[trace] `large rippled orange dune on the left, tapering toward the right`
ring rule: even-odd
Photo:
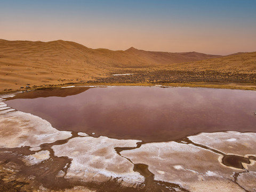
[[[135,52],[134,52],[135,50]],[[68,41],[31,42],[0,39],[0,91],[22,85],[60,84],[104,77],[113,67],[149,67],[217,57],[142,50],[90,49]]]

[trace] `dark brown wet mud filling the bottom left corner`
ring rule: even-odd
[[[42,189],[41,186],[46,191],[72,189],[75,186],[83,186],[85,189],[97,191],[145,191],[142,188],[143,186],[141,188],[140,186],[134,188],[121,186],[118,178],[108,182],[82,182],[65,179],[71,159],[55,156],[51,147],[63,145],[75,137],[81,136],[73,133],[73,136],[68,139],[58,140],[53,143],[43,143],[40,146],[41,149],[37,151],[29,150],[30,147],[1,148],[0,183],[2,185],[0,185],[0,191],[33,191],[33,189]],[[22,159],[26,159],[26,156],[43,150],[50,151],[50,158],[42,163],[28,166],[22,161]]]

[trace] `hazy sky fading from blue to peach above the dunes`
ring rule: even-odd
[[[0,0],[0,38],[91,48],[256,51],[255,0]]]

